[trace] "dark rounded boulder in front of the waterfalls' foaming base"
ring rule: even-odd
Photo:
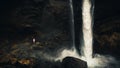
[[[87,68],[87,63],[83,60],[66,57],[62,61],[63,68]]]

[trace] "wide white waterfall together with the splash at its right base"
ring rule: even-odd
[[[102,56],[99,54],[93,55],[93,35],[92,35],[92,23],[93,23],[93,5],[92,0],[83,0],[82,4],[82,18],[83,18],[83,55],[89,68],[106,68],[111,67],[109,64],[116,64],[116,60],[111,56]],[[91,12],[92,11],[92,12]]]

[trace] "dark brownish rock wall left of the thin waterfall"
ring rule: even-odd
[[[55,56],[56,50],[72,46],[67,0],[6,2],[13,6],[6,6],[6,12],[1,12],[0,58],[8,54],[17,59],[41,57],[45,53]]]

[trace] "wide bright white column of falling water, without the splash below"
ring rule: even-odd
[[[91,2],[89,0],[83,0],[82,5],[82,17],[83,17],[83,39],[84,39],[84,57],[86,61],[92,59],[92,16],[91,16]]]

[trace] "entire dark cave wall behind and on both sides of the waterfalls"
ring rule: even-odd
[[[81,5],[81,0],[73,0],[75,46],[78,53],[82,44]],[[94,54],[120,57],[118,7],[118,0],[95,0]],[[29,57],[33,54],[38,59],[41,56],[39,52],[57,56],[56,53],[59,54],[62,48],[72,47],[69,0],[1,0],[0,9],[0,57],[3,62],[13,59],[21,61],[26,57],[31,59]],[[33,38],[37,42],[35,47]],[[42,63],[43,60],[40,61]]]

